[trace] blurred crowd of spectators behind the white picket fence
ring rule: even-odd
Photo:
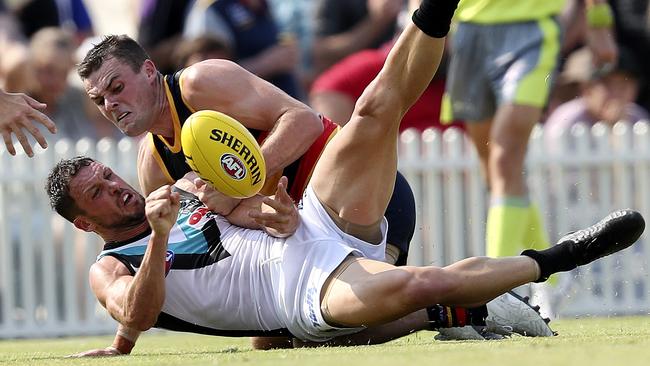
[[[648,117],[648,0],[610,0],[618,60],[598,64],[584,45],[583,0],[560,15],[561,60],[541,121],[549,136],[578,121]],[[383,64],[408,19],[402,0],[139,0],[138,34],[163,73],[208,58],[244,66],[337,122]],[[74,74],[101,37],[83,0],[0,0],[0,87],[47,103],[58,138],[120,138],[84,95]],[[572,15],[567,15],[572,14]],[[577,14],[577,16],[575,15]],[[103,14],[102,16],[111,16]],[[115,15],[113,15],[115,16]],[[453,34],[452,34],[453,37]],[[451,42],[449,42],[451,43]],[[446,68],[405,117],[402,128],[444,129]],[[455,126],[462,128],[461,121]]]

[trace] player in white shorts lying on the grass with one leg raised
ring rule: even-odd
[[[468,308],[632,245],[645,223],[638,212],[621,210],[550,249],[519,256],[473,257],[446,267],[378,260],[399,122],[437,69],[457,2],[421,3],[351,120],[325,148],[289,238],[233,226],[171,186],[145,200],[91,159],[57,165],[47,184],[52,206],[106,242],[90,283],[120,323],[116,339],[130,342],[83,355],[128,353],[139,332],[154,326],[322,342],[414,314],[434,326],[473,324],[484,314]],[[286,198],[284,184],[278,201]],[[441,316],[450,308],[432,304],[459,311]]]

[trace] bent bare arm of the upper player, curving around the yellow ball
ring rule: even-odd
[[[208,60],[190,66],[181,83],[183,97],[195,110],[217,110],[247,128],[271,132],[262,144],[267,176],[302,156],[323,132],[311,108],[233,62]]]

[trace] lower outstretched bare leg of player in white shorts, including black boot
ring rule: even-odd
[[[333,281],[329,300],[323,301],[334,323],[348,326],[393,320],[430,304],[475,307],[517,286],[623,250],[644,228],[641,214],[621,210],[565,236],[552,248],[527,250],[517,257],[473,257],[444,268],[354,259]]]

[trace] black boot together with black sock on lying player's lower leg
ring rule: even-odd
[[[540,267],[537,282],[556,272],[570,271],[634,244],[645,229],[645,220],[633,210],[612,212],[598,223],[562,237],[545,250],[528,249],[521,254],[533,258]]]

